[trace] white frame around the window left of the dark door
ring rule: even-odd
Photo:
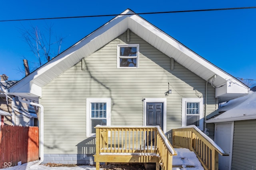
[[[111,98],[86,98],[86,137],[95,136],[95,133],[91,133],[91,103],[106,103],[106,119],[107,126],[111,125]]]

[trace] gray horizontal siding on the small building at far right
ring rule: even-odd
[[[235,121],[233,141],[233,170],[256,168],[256,120]]]

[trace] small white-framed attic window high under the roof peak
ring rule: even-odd
[[[138,68],[139,67],[139,44],[117,45],[117,67]]]

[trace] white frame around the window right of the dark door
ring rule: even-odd
[[[182,98],[182,127],[186,126],[186,107],[187,103],[199,103],[199,129],[204,130],[204,105],[203,98]]]

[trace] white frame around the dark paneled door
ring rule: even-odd
[[[166,133],[166,98],[144,98],[143,99],[143,125],[146,126],[146,104],[147,103],[163,103],[163,132]]]

